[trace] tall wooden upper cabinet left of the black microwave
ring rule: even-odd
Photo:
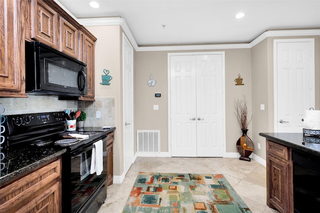
[[[24,0],[0,0],[0,96],[26,97]]]

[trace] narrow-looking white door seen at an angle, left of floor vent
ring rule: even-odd
[[[133,162],[133,48],[123,34],[123,163],[126,173]]]

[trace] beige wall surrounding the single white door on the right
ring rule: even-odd
[[[315,109],[320,109],[320,36],[268,37],[251,48],[252,67],[252,140],[253,153],[265,159],[265,138],[259,132],[273,132],[273,40],[293,38],[314,38]],[[260,110],[264,104],[265,110]],[[260,149],[257,149],[257,143]]]

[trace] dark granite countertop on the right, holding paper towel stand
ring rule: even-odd
[[[261,132],[260,136],[279,144],[320,156],[320,138],[303,136],[303,133]],[[315,140],[315,142],[307,142]]]

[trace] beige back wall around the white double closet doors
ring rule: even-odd
[[[235,144],[242,133],[234,115],[233,101],[245,95],[251,112],[251,52],[249,48],[207,51],[225,52],[225,148],[226,152],[237,152]],[[138,51],[135,54],[134,128],[160,130],[161,152],[168,151],[168,52],[172,51]],[[147,85],[151,73],[156,80],[153,87]],[[235,85],[234,82],[238,73],[243,78],[242,86]],[[161,92],[161,97],[154,97],[155,92]],[[153,110],[153,104],[158,104],[159,110]],[[248,136],[250,135],[251,132],[248,131]]]

